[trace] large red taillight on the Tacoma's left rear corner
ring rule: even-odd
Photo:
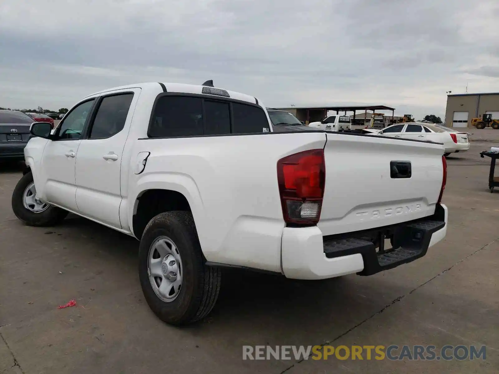
[[[317,224],[325,176],[322,149],[296,153],[277,162],[277,183],[286,223]]]

